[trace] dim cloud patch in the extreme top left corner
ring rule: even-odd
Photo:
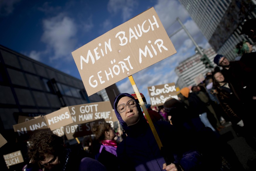
[[[14,6],[21,0],[1,0],[0,1],[0,16],[8,16],[14,10]]]

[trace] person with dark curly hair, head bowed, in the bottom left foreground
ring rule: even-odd
[[[26,170],[35,170],[33,166],[37,164],[40,164],[40,169],[44,171],[106,170],[100,162],[87,157],[80,146],[66,148],[64,140],[50,130],[37,131],[31,136],[28,141],[27,155],[30,164]]]

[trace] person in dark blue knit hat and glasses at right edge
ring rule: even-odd
[[[216,55],[214,62],[223,68],[222,75],[235,97],[240,101],[244,117],[248,118],[246,121],[244,120],[247,122],[245,124],[249,125],[251,130],[255,130],[255,116],[252,112],[256,105],[255,66],[248,65],[241,60],[229,62],[225,56],[220,55]]]

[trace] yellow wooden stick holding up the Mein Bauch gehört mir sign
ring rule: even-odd
[[[135,82],[133,80],[133,76],[129,76],[129,80],[130,80],[130,82],[131,82],[131,84],[133,86],[133,90],[134,90],[134,92],[135,92],[135,94],[136,94],[136,96],[137,96],[137,98],[138,98],[138,100],[140,102],[140,106],[143,109],[145,117],[148,120],[149,126],[150,126],[150,128],[152,130],[152,133],[154,134],[155,140],[157,141],[158,147],[161,150],[161,147],[163,147],[163,145],[162,145],[161,140],[160,140],[160,138],[159,138],[159,136],[158,136],[158,134],[157,134],[157,132],[155,130],[154,124],[152,123],[152,120],[151,120],[151,118],[150,118],[150,116],[148,114],[148,110],[146,109],[146,106],[145,106],[145,104],[144,104],[144,102],[143,102],[143,100],[142,100],[142,98],[140,96],[140,92],[139,92],[139,90],[138,90],[138,88],[137,88],[137,86],[136,86],[136,84],[135,84]]]

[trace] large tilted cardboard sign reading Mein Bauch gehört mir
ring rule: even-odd
[[[152,7],[72,52],[90,96],[176,50]]]

